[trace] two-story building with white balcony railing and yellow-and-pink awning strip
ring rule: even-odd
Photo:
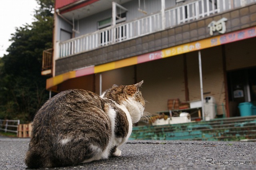
[[[212,96],[226,117],[256,102],[256,0],[56,0],[53,44],[49,91],[144,80],[152,115],[168,99]]]

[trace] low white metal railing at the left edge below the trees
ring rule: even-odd
[[[2,120],[0,119],[0,130],[4,132],[15,132],[18,134],[20,120]]]

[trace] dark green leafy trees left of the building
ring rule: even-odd
[[[16,28],[9,53],[0,59],[0,119],[32,121],[48,97],[42,51],[52,47],[54,0],[36,1],[34,22]]]

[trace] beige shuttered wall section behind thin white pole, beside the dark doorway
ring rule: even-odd
[[[198,51],[187,53],[186,58],[189,100],[201,100]],[[204,97],[213,96],[215,98],[217,113],[221,115],[223,114],[222,105],[226,106],[222,47],[201,50],[201,59]]]

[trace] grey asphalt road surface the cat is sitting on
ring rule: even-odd
[[[28,149],[28,143],[28,138],[6,138],[0,136],[0,169],[25,169],[26,165],[24,164],[24,155]],[[131,140],[124,144],[121,150],[122,155],[120,157],[112,157],[108,160],[99,160],[77,166],[47,169],[256,169],[256,142]],[[236,164],[240,165],[233,165],[235,163],[234,161],[236,161]],[[226,166],[219,165],[224,163]]]

